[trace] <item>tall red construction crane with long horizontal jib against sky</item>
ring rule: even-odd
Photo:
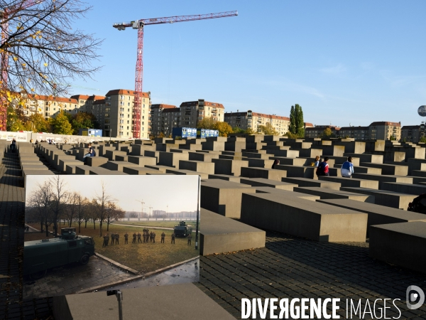
[[[133,106],[133,138],[141,138],[141,97],[142,97],[142,74],[143,74],[143,26],[148,24],[175,23],[195,20],[206,20],[214,18],[225,18],[227,16],[238,16],[237,11],[219,12],[219,14],[197,14],[192,16],[168,16],[165,18],[141,19],[131,22],[114,23],[112,26],[119,30],[126,28],[138,29],[138,54],[136,58],[136,80],[135,101]]]

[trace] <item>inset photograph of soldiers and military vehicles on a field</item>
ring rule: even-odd
[[[23,299],[199,281],[200,176],[27,176]]]

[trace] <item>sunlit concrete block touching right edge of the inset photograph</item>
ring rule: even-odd
[[[248,250],[265,247],[263,230],[226,218],[212,211],[201,209],[200,255]]]

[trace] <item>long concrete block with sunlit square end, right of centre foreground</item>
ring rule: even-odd
[[[305,199],[243,193],[241,222],[257,228],[326,242],[364,242],[366,213]]]

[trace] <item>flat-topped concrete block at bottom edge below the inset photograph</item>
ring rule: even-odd
[[[198,289],[195,284],[170,284],[166,286],[123,289],[123,319],[139,319],[150,314],[155,320],[170,320],[176,314],[188,315],[188,302],[192,302],[190,315],[205,320],[233,320],[234,316]],[[161,302],[161,304],[158,304]],[[53,298],[55,319],[116,320],[118,303],[115,296],[106,292],[71,294]]]

